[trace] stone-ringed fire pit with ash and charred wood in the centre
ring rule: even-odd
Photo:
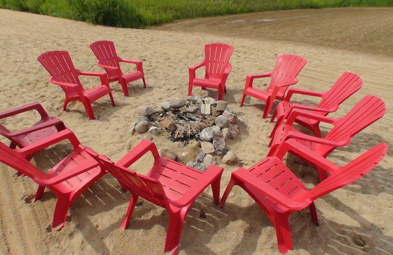
[[[137,112],[138,120],[130,128],[132,134],[148,132],[167,136],[172,142],[183,142],[184,146],[191,141],[200,144],[200,152],[195,160],[187,163],[190,167],[204,171],[210,164],[217,163],[218,156],[224,164],[238,162],[235,153],[228,148],[227,141],[235,140],[247,125],[239,117],[244,113],[233,112],[225,101],[190,96],[162,102],[158,110],[151,106],[140,106]],[[178,161],[177,154],[171,154],[175,155],[171,159]]]

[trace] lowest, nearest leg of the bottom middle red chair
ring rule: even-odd
[[[171,255],[176,254],[179,249],[181,229],[183,227],[184,219],[186,218],[188,209],[191,204],[183,207],[176,208],[170,206],[172,211],[168,210],[169,213],[169,225],[167,231],[167,237],[165,239],[164,253],[169,252]]]

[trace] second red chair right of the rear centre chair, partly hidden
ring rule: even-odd
[[[277,115],[277,122],[273,128],[270,137],[274,136],[276,129],[281,126],[281,124],[288,118],[292,109],[303,109],[309,110],[315,114],[320,114],[326,116],[330,112],[337,111],[338,106],[341,102],[344,102],[349,96],[358,91],[363,85],[363,80],[354,73],[343,73],[341,77],[338,78],[333,87],[326,92],[316,92],[304,89],[289,88],[286,93],[284,101],[280,102],[275,111],[270,122],[273,122]],[[320,97],[321,101],[316,107],[291,103],[290,98],[293,94],[307,95],[312,97]],[[319,130],[319,121],[313,119],[303,118],[299,116],[295,122],[305,128],[311,130],[316,137],[321,137],[321,131]]]

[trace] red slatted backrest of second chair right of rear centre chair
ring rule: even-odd
[[[358,91],[362,85],[363,80],[357,74],[345,72],[333,87],[322,95],[322,100],[317,107],[336,110],[340,103]]]

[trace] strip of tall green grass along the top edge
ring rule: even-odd
[[[331,7],[393,7],[393,0],[0,0],[0,8],[133,28],[197,17]]]

